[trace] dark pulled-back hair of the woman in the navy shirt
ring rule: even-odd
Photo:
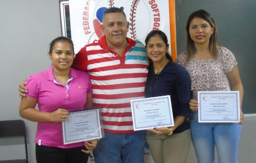
[[[168,38],[167,38],[166,34],[163,31],[160,31],[160,30],[153,30],[153,31],[150,31],[148,33],[148,35],[145,39],[145,48],[147,48],[148,40],[151,37],[154,37],[156,35],[158,35],[163,40],[163,42],[166,44],[166,46],[169,46]],[[166,58],[169,59],[170,61],[172,61],[172,56],[168,52],[166,52]]]

